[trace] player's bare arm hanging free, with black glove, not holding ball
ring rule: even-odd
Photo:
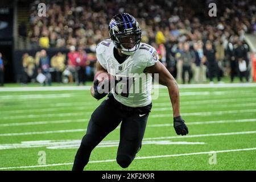
[[[179,96],[179,87],[177,85],[176,80],[171,75],[171,73],[167,70],[166,67],[160,61],[156,62],[156,64],[151,67],[147,67],[144,71],[152,74],[159,74],[159,84],[167,86],[172,110],[174,115],[174,128],[177,135],[186,135],[188,134],[188,128],[185,125],[185,121],[181,118],[180,114],[180,96]]]

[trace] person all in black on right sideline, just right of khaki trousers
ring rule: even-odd
[[[216,61],[216,51],[212,47],[212,43],[208,41],[205,45],[204,51],[205,58],[207,60],[208,73],[210,78],[210,84],[213,84],[213,77],[217,76],[218,82],[221,83],[220,69]]]

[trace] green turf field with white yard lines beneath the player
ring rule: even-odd
[[[180,99],[189,135],[175,134],[163,88],[153,101],[142,149],[129,168],[115,162],[117,128],[94,149],[86,169],[256,169],[256,86],[181,88]],[[70,170],[100,102],[89,90],[0,92],[0,169]]]

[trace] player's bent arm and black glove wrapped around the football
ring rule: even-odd
[[[95,76],[94,76],[94,80],[93,80],[93,85],[92,87],[90,88],[90,94],[92,94],[92,96],[94,98],[96,98],[97,100],[100,100],[101,98],[105,97],[106,94],[105,93],[98,93],[97,91],[97,86],[98,86],[98,80],[96,79],[97,76],[102,73],[102,72],[107,72],[106,69],[104,69],[102,67],[102,65],[97,61],[96,62],[96,73],[95,73]]]

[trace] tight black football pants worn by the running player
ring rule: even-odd
[[[73,171],[81,171],[89,162],[90,153],[102,139],[113,131],[119,123],[120,140],[117,163],[126,168],[141,148],[147,118],[152,104],[144,107],[127,107],[116,101],[112,94],[93,112],[87,131],[75,156]]]

